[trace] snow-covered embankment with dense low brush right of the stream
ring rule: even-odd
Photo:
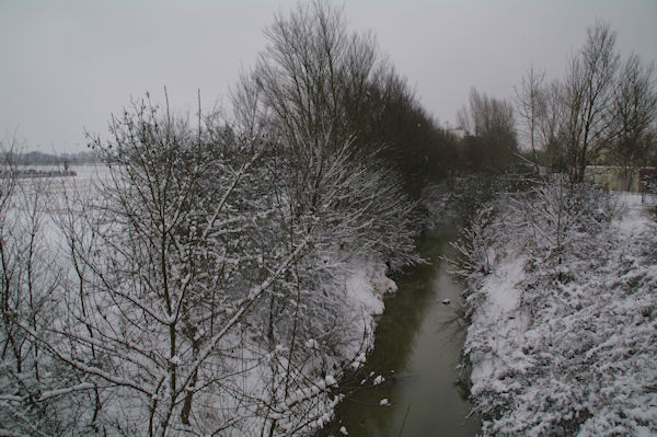
[[[657,433],[657,227],[639,196],[505,195],[460,248],[485,435]]]

